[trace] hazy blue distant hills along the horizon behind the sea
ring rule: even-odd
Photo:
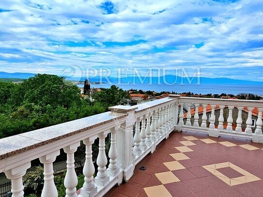
[[[5,73],[0,72],[0,78],[29,78],[31,76],[35,76],[36,74],[33,73]],[[86,77],[68,77],[65,76],[67,80],[70,81],[85,81]],[[166,83],[166,84],[248,84],[248,85],[263,85],[263,82],[259,81],[248,81],[248,80],[238,80],[238,79],[230,79],[230,78],[208,78],[208,77],[181,77],[181,76],[173,76],[173,75],[166,75],[166,76],[154,76],[154,77],[88,77],[90,81],[93,82],[104,82],[108,83],[108,80],[112,84],[127,84],[127,83],[136,83],[140,84],[141,82],[145,84],[149,83]]]

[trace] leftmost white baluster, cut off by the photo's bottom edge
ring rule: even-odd
[[[21,166],[9,169],[5,171],[7,179],[11,180],[12,184],[12,197],[23,197],[24,196],[24,186],[22,177],[26,174],[27,169],[31,167],[31,163],[25,163]]]

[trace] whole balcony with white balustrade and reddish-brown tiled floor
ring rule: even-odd
[[[252,196],[263,196],[262,101],[170,95],[137,106],[109,109],[103,114],[0,139],[0,172],[12,181],[13,197],[23,196],[22,177],[37,158],[44,164],[42,197],[58,196],[53,162],[60,149],[67,154],[67,197],[249,196],[249,191],[257,192]],[[244,109],[247,115],[242,113]],[[258,114],[253,112],[255,109]],[[252,117],[257,118],[254,123]],[[108,161],[105,138],[109,133]],[[92,144],[96,138],[98,173],[93,179]],[[76,191],[74,152],[81,140],[86,145],[85,183]],[[141,171],[141,166],[147,169]]]

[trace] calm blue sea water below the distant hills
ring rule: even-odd
[[[77,85],[78,87],[83,87],[83,85]],[[110,88],[111,84],[91,84],[91,88]],[[143,91],[174,91],[178,93],[191,91],[197,94],[234,94],[238,93],[253,93],[256,95],[263,96],[263,85],[238,85],[238,84],[205,84],[205,85],[186,85],[186,84],[175,84],[175,85],[167,85],[167,84],[117,84],[119,88],[124,90],[130,89],[142,89]]]

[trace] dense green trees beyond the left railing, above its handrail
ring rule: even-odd
[[[55,75],[0,82],[0,138],[102,113],[125,98],[116,86],[82,98],[76,85]]]

